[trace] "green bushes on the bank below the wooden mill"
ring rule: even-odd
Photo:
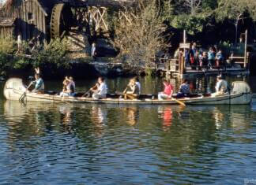
[[[0,75],[12,69],[24,69],[28,65],[33,67],[68,68],[70,61],[66,57],[66,39],[56,39],[51,41],[44,50],[34,50],[32,57],[24,55],[28,52],[28,43],[22,43],[22,51],[19,55],[14,55],[16,47],[13,39],[0,40]]]

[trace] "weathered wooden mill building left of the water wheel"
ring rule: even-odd
[[[47,25],[54,4],[54,0],[21,0],[11,9],[3,8],[0,13],[0,37],[15,38],[21,34],[23,40],[35,37],[40,43],[47,41]]]

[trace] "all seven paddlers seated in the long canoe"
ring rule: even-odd
[[[30,83],[34,85],[32,92],[42,94],[44,92],[43,79],[40,77],[40,69],[36,68],[35,79]],[[174,95],[174,87],[168,80],[163,80],[164,91],[158,93],[159,100],[171,99],[171,98],[186,98],[190,97],[190,85],[188,80],[183,80],[183,83],[179,87],[179,91]],[[29,88],[28,87],[28,88]],[[66,76],[63,80],[63,89],[59,93],[61,97],[74,97],[76,95],[76,86],[73,81],[72,76]],[[228,83],[224,80],[224,76],[219,75],[216,77],[216,92],[211,94],[212,96],[218,96],[221,94],[228,93]],[[122,91],[122,94],[119,98],[124,99],[137,99],[140,98],[141,94],[141,83],[137,77],[130,79],[130,82],[127,84],[126,89]],[[104,77],[99,77],[97,83],[89,89],[87,93],[83,95],[86,98],[100,99],[107,98],[107,84],[105,83]]]

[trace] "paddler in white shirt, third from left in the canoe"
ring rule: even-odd
[[[99,98],[106,98],[107,97],[107,84],[104,82],[103,77],[98,78],[98,83],[92,88],[90,88],[90,91],[92,91],[92,98],[93,99],[99,99]]]

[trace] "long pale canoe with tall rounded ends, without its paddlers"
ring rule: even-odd
[[[150,94],[144,94],[138,100],[124,100],[119,98],[118,95],[109,94],[104,99],[92,99],[81,97],[81,94],[77,94],[77,97],[65,97],[62,98],[55,94],[36,94],[36,93],[24,93],[26,91],[21,79],[12,78],[7,80],[4,95],[9,100],[24,101],[37,101],[37,102],[82,102],[82,103],[115,103],[115,104],[177,104],[174,100],[158,100],[152,97]],[[180,98],[179,100],[186,104],[249,104],[251,102],[252,94],[250,93],[250,87],[245,82],[234,82],[231,94],[224,94],[216,97],[203,97],[198,96],[194,98]]]

